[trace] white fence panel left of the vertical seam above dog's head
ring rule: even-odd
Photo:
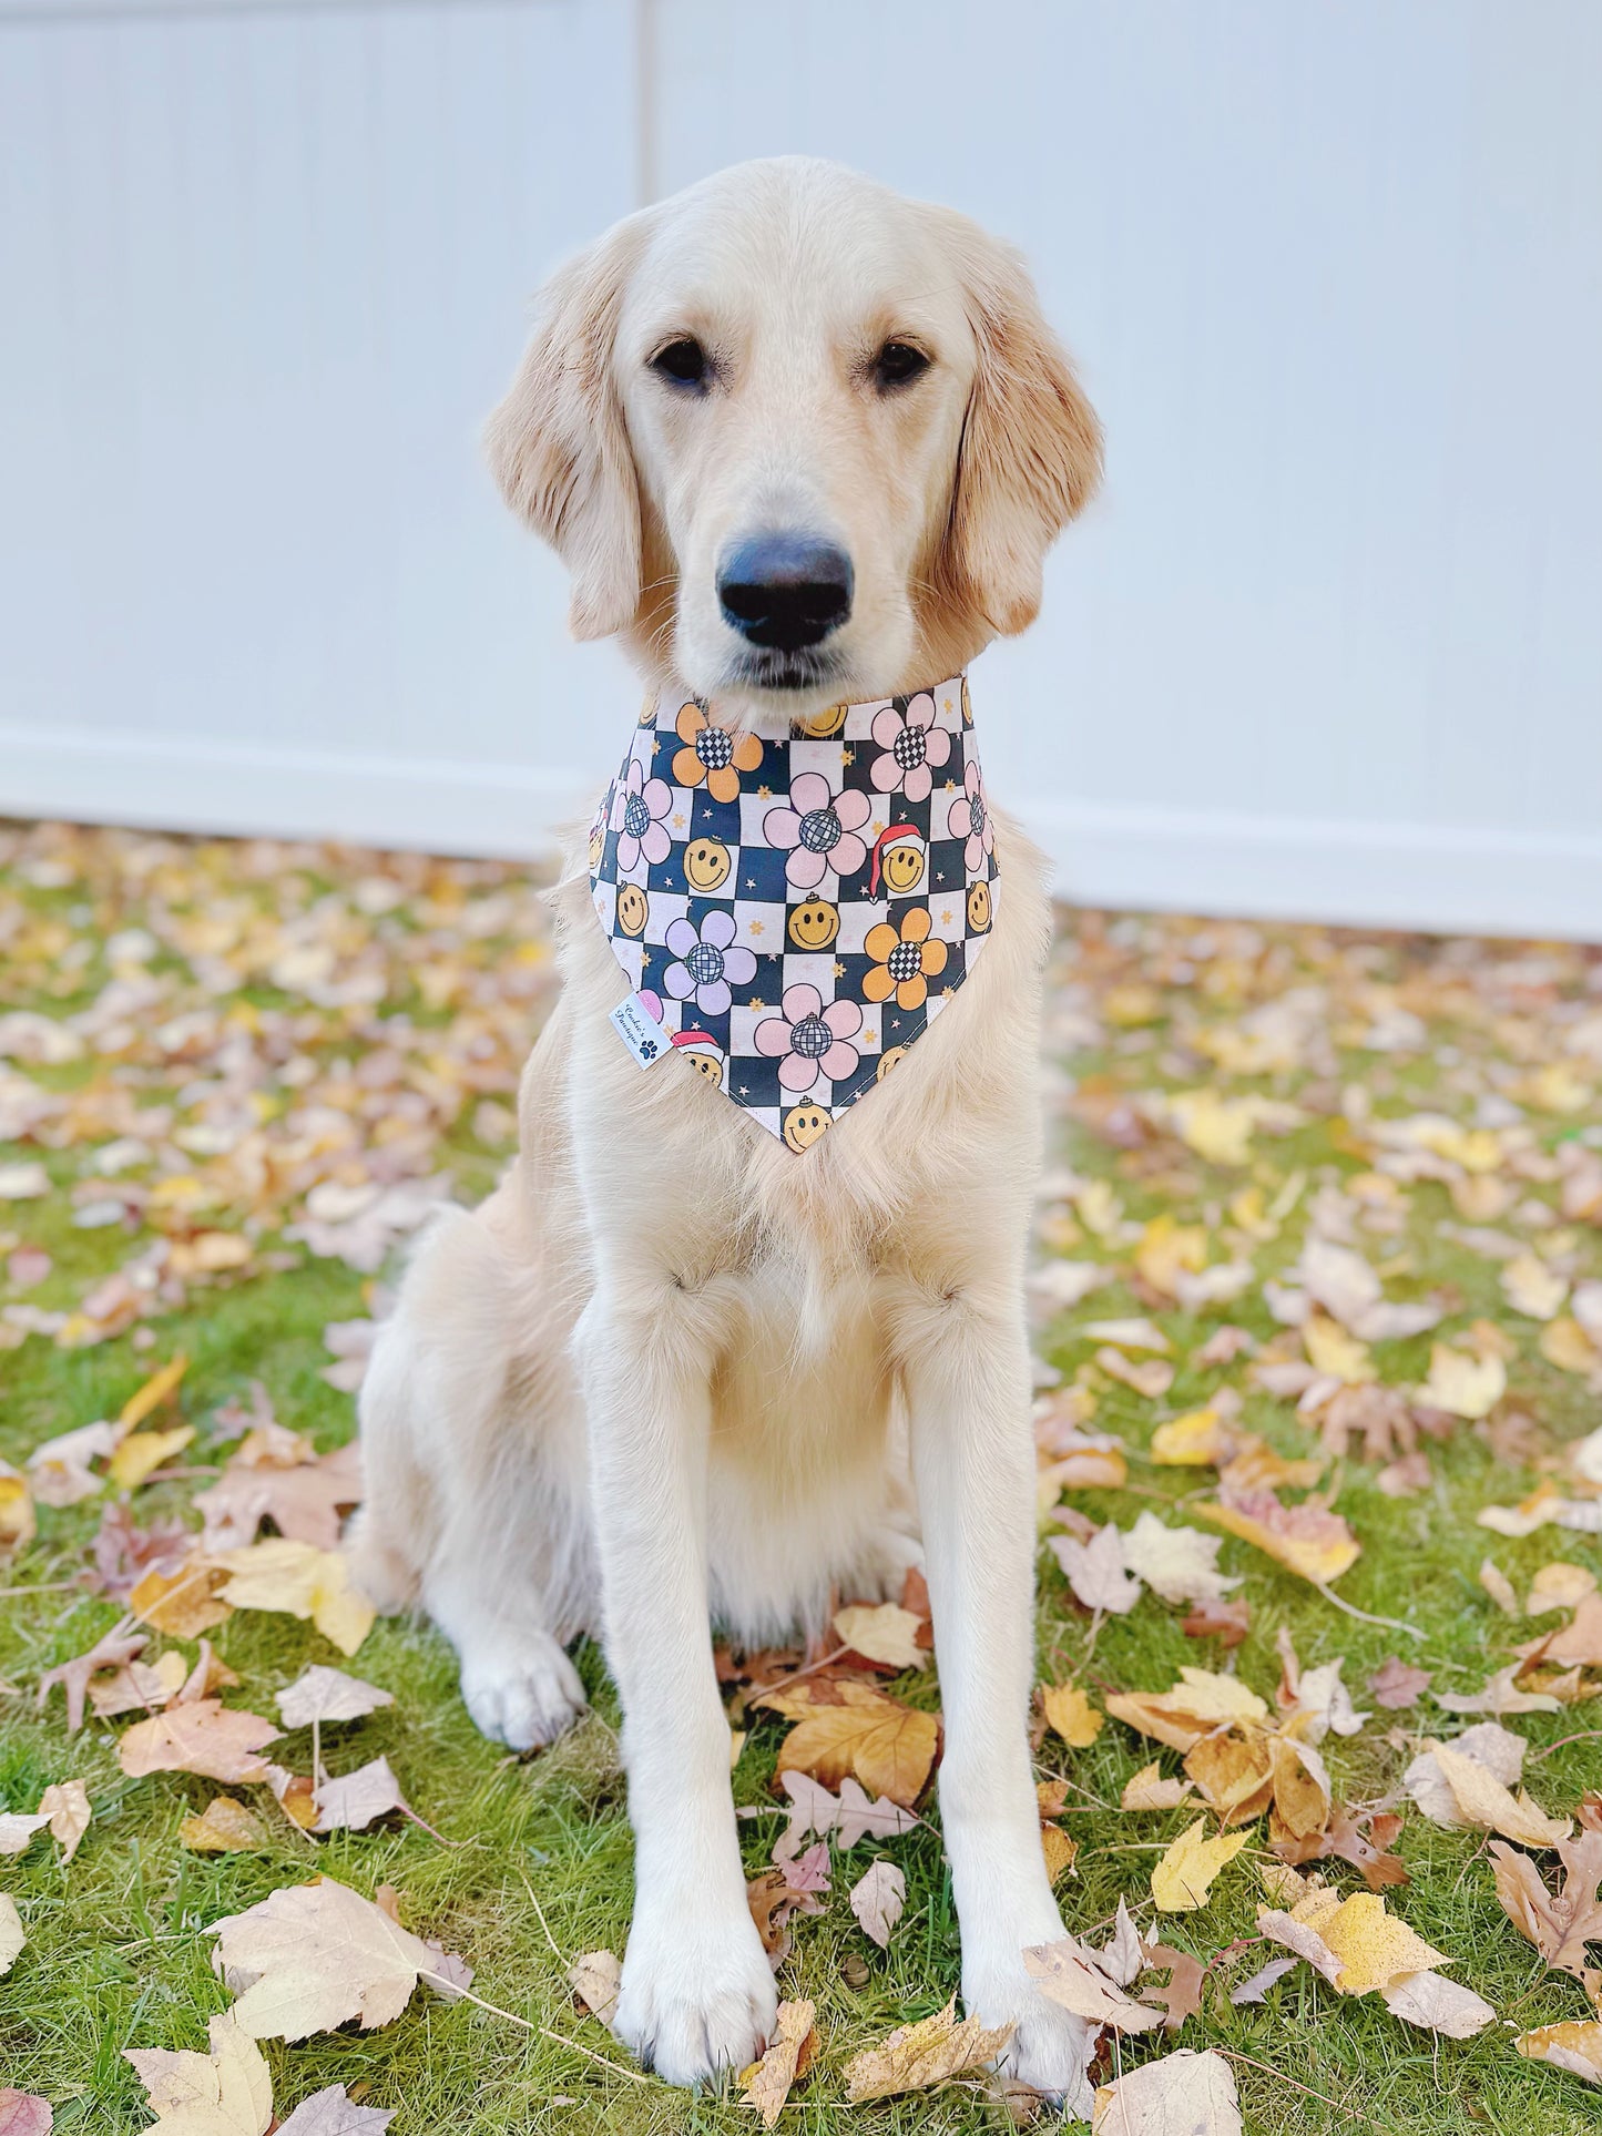
[[[626,684],[478,429],[634,205],[630,6],[47,15],[0,9],[0,807],[538,846]]]

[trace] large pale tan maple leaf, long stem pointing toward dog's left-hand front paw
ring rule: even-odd
[[[207,1933],[229,1976],[248,1980],[233,2014],[252,2040],[305,2040],[352,2016],[372,2031],[402,2014],[425,1974],[472,1982],[459,1959],[333,1878],[276,1890]]]

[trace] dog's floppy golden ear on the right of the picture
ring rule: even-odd
[[[1047,549],[1096,491],[1102,425],[1021,256],[965,216],[938,216],[978,344],[942,566],[953,594],[1012,637],[1040,609]]]

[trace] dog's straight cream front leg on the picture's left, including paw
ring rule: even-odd
[[[634,1920],[617,2036],[675,2085],[756,2059],[773,1974],[739,1860],[707,1611],[705,1297],[604,1290],[575,1337],[590,1429],[607,1660],[624,1702]]]

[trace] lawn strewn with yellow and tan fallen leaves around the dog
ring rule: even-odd
[[[720,1651],[786,2019],[694,2100],[604,2029],[600,1658],[594,1713],[508,1758],[444,1643],[344,1583],[393,1258],[506,1160],[551,991],[513,867],[0,831],[9,2136],[1038,2115],[946,2008],[916,1579],[842,1596],[822,1653]],[[1064,912],[1047,1051],[1036,1754],[1070,1933],[1030,1963],[1104,2027],[1100,2121],[1579,2136],[1602,957]]]

